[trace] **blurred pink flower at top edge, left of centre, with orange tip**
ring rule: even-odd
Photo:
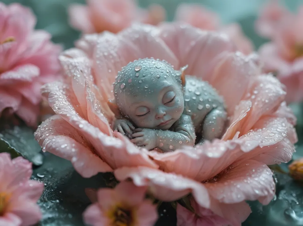
[[[134,0],[87,0],[87,4],[69,8],[71,25],[84,33],[117,33],[133,22],[157,25],[166,14],[161,5],[150,5],[145,10],[138,8]]]

